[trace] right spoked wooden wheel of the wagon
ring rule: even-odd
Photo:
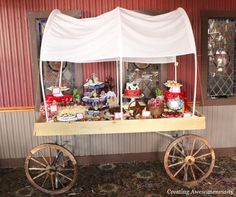
[[[194,187],[213,170],[215,153],[206,139],[183,135],[166,149],[164,167],[169,177],[186,187]]]

